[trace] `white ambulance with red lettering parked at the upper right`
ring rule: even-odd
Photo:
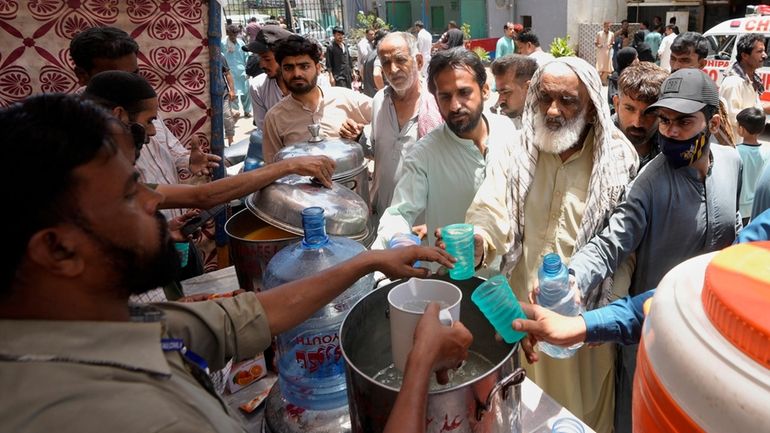
[[[759,33],[765,36],[765,49],[770,46],[770,6],[747,6],[746,17],[727,20],[718,24],[703,34],[711,45],[703,70],[716,81],[717,86],[722,82],[724,73],[735,62],[738,39],[747,33]],[[760,97],[770,101],[770,54],[763,67],[757,70],[765,93]]]

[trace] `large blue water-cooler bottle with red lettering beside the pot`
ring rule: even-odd
[[[351,239],[327,236],[320,207],[303,210],[302,225],[304,238],[279,251],[267,265],[265,290],[315,275],[366,251]],[[348,404],[339,329],[348,310],[373,286],[373,275],[359,279],[304,323],[278,336],[278,384],[289,403],[310,410]]]

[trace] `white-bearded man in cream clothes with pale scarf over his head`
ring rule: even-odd
[[[502,272],[526,300],[545,254],[569,260],[603,228],[639,160],[610,119],[596,69],[577,57],[535,72],[522,124],[509,158],[490,162],[466,222],[475,226],[476,263],[505,254]],[[588,309],[610,299],[612,284],[604,288],[584,300]],[[541,359],[527,375],[594,430],[609,432],[614,361],[612,345],[584,348],[569,359]]]

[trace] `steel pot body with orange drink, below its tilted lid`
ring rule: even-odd
[[[299,236],[288,232],[268,239],[251,238],[257,230],[268,226],[248,209],[233,215],[225,223],[225,233],[230,238],[230,258],[235,265],[238,284],[244,290],[259,290],[262,272],[270,259],[283,247],[299,240]]]

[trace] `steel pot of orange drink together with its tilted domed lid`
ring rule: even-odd
[[[309,177],[286,176],[249,196],[248,209],[225,224],[241,288],[261,287],[270,259],[302,236],[302,209],[311,206],[324,209],[329,235],[348,237],[365,247],[374,242],[377,233],[371,229],[369,208],[356,193],[337,182],[326,188]]]

